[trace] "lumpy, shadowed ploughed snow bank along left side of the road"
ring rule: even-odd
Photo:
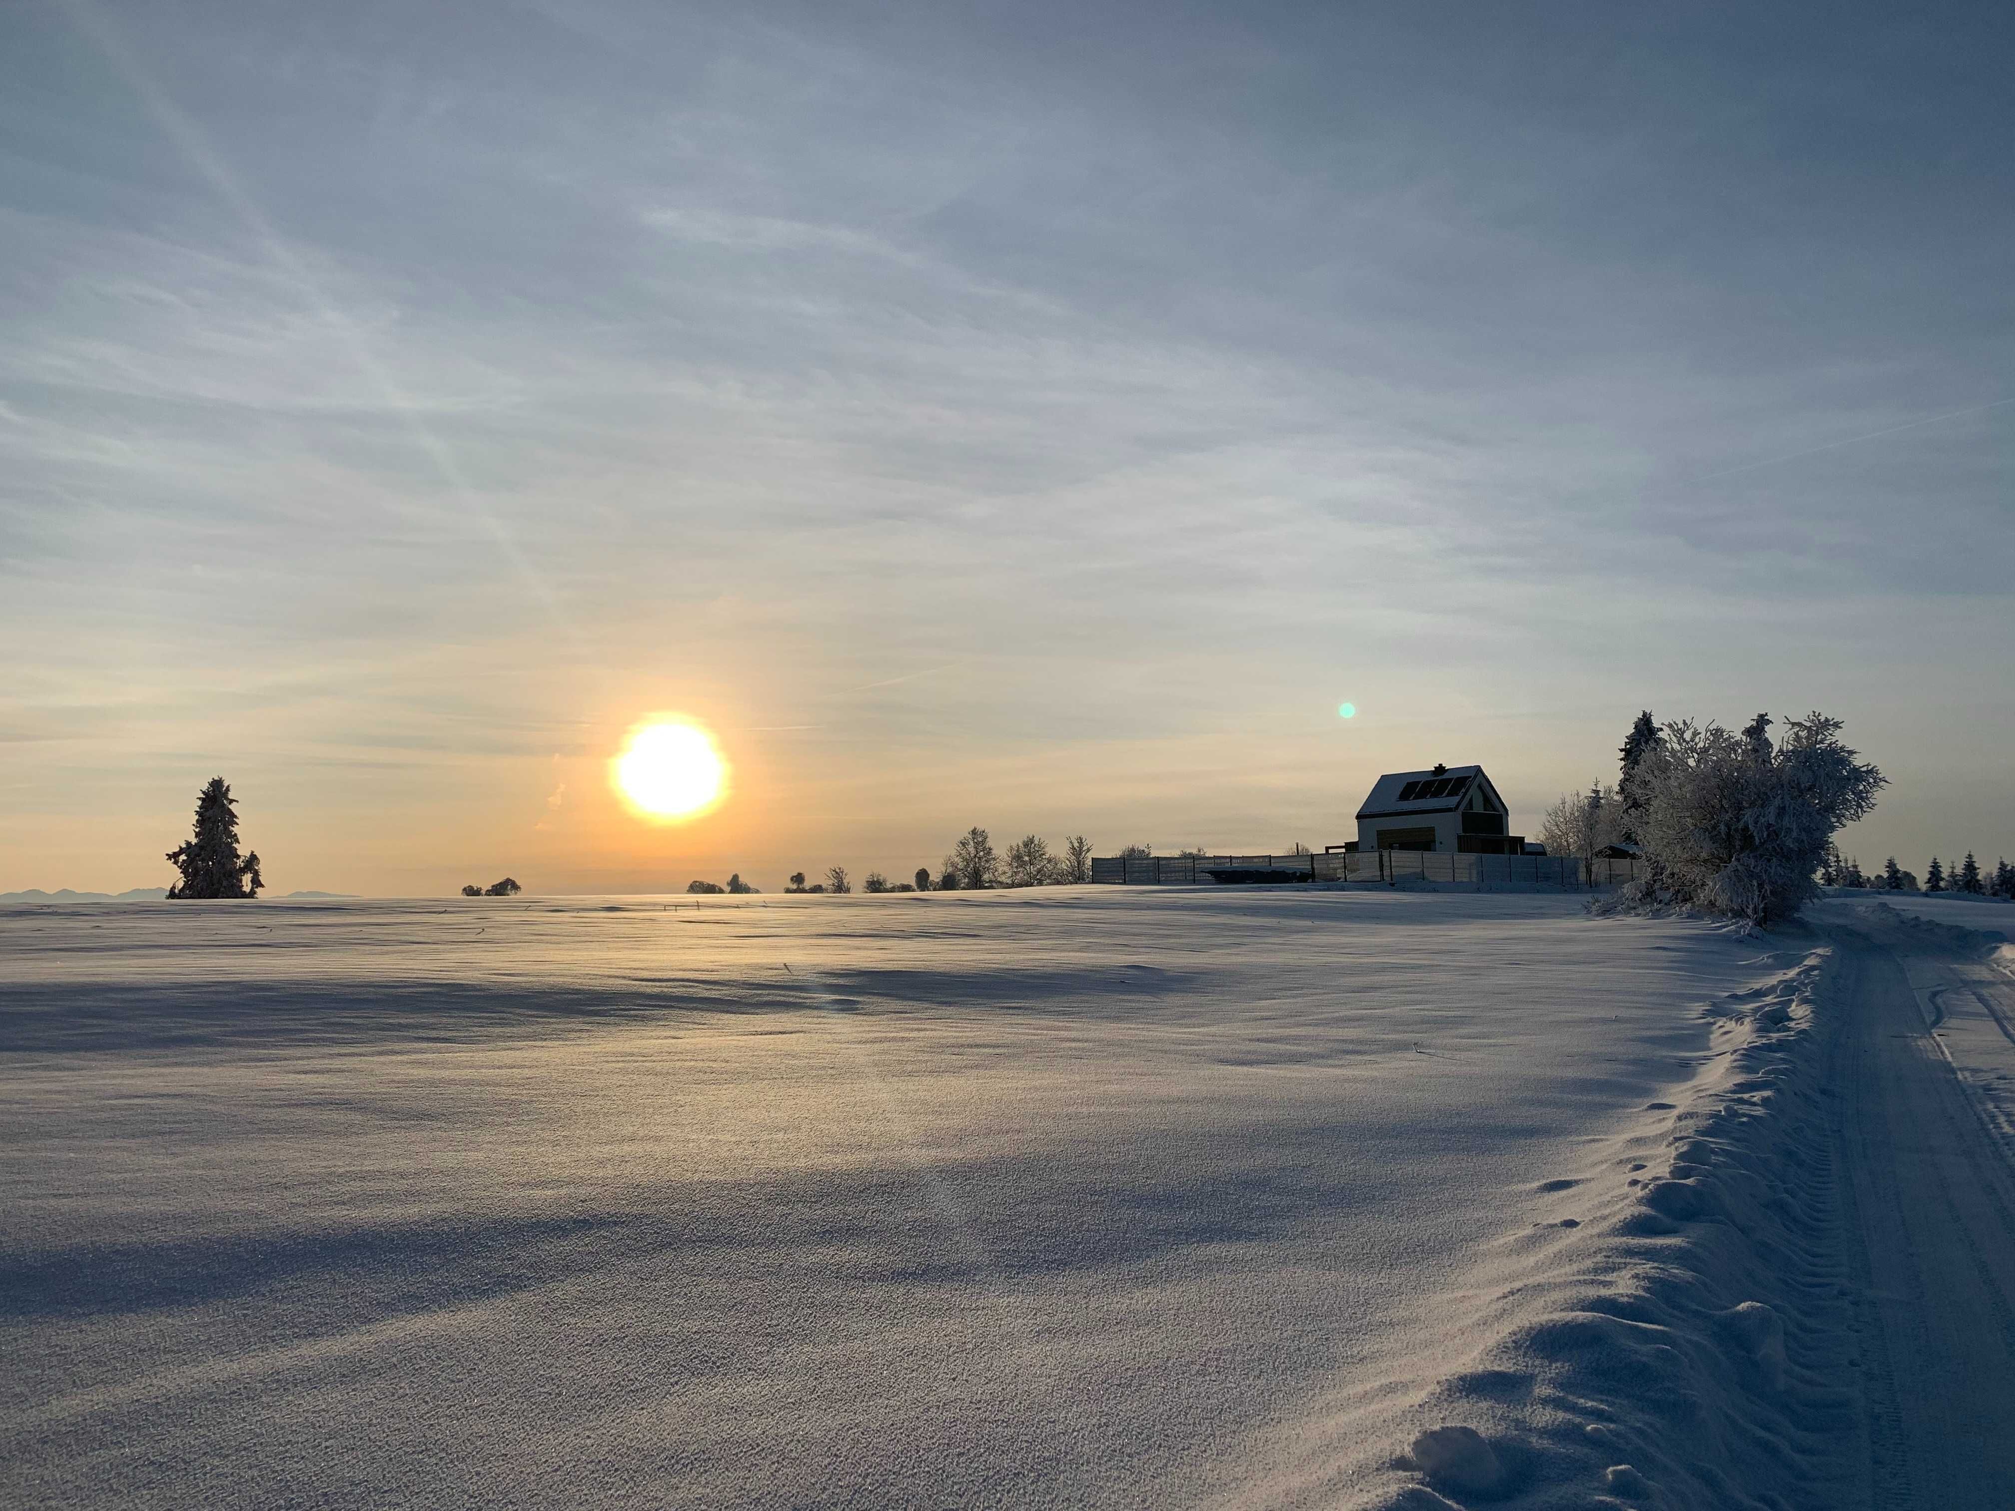
[[[1491,1342],[1425,1398],[1360,1501],[1449,1507],[1854,1503],[1862,1400],[1824,1102],[1828,953],[1707,1007],[1670,1102],[1552,1181],[1481,1301]]]

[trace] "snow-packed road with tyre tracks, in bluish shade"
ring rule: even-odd
[[[2015,979],[1951,911],[1818,913],[1842,941],[1852,1023],[1830,1080],[1860,1237],[1874,1503],[2015,1507]]]

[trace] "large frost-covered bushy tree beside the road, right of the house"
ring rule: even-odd
[[[1840,719],[1809,713],[1771,745],[1769,717],[1739,735],[1676,719],[1636,768],[1638,844],[1648,876],[1602,913],[1693,907],[1755,925],[1818,895],[1814,872],[1842,824],[1864,818],[1886,778],[1856,762]]]

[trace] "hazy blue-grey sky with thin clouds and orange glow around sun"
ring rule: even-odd
[[[0,888],[1265,850],[1824,709],[2015,856],[2005,6],[0,10]],[[1350,701],[1356,717],[1338,717]],[[609,790],[651,711],[733,790]]]

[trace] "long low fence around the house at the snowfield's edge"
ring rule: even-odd
[[[1092,860],[1094,882],[1211,886],[1241,880],[1443,882],[1453,886],[1558,886],[1602,890],[1636,880],[1636,860],[1566,854],[1449,854],[1429,850],[1332,850],[1328,854],[1112,856]],[[1213,876],[1211,872],[1223,872]]]

